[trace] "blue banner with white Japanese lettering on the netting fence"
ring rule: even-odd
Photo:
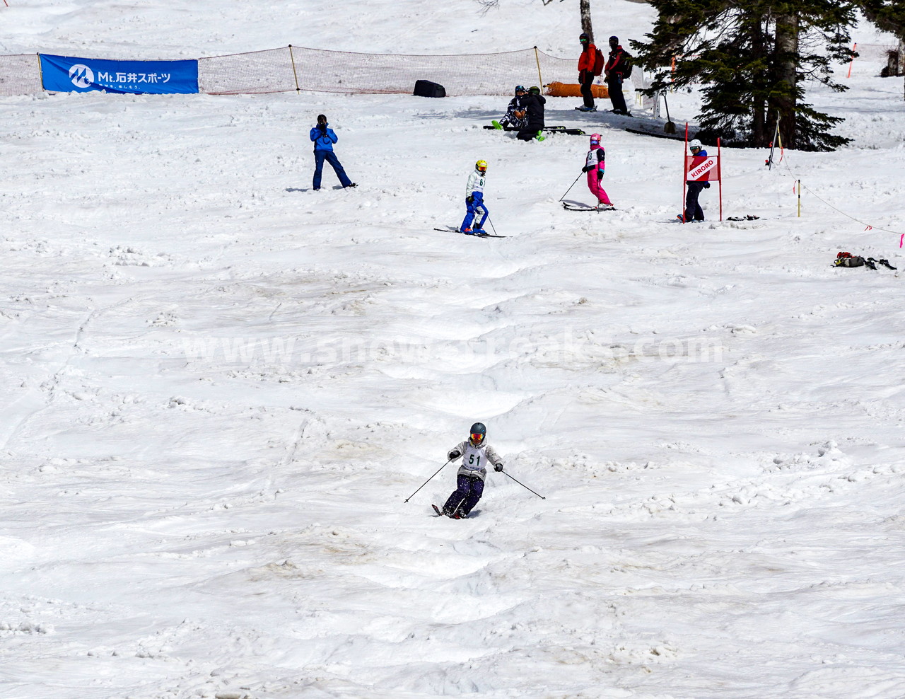
[[[44,90],[192,94],[198,91],[197,61],[104,61],[41,53]]]

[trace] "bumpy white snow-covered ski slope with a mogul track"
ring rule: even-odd
[[[570,55],[577,24],[191,5],[3,8],[3,49]],[[0,695],[905,695],[901,277],[831,265],[905,264],[905,107],[856,78],[810,95],[853,147],[724,151],[760,218],[711,188],[696,226],[681,147],[575,100],[548,122],[604,134],[617,211],[563,211],[586,139],[481,129],[496,98],[4,98]],[[320,111],[355,190],[310,190]],[[477,158],[505,239],[433,230]],[[545,499],[491,474],[432,518],[450,465],[405,503],[478,419]]]

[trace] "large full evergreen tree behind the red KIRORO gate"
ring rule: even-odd
[[[650,0],[659,13],[649,41],[633,42],[649,70],[671,68],[647,92],[700,82],[699,138],[765,147],[776,119],[787,148],[833,150],[851,139],[830,133],[843,120],[803,101],[806,80],[833,81],[832,62],[851,58],[849,0]]]

